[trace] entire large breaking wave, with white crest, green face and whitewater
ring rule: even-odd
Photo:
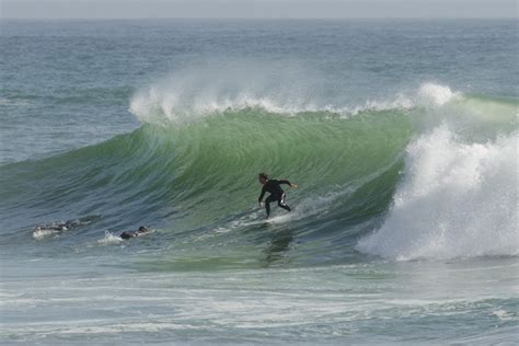
[[[131,134],[1,166],[4,228],[20,210],[33,216],[27,229],[42,216],[95,214],[100,220],[81,230],[85,242],[106,229],[151,224],[161,229],[164,255],[182,243],[204,258],[237,249],[245,256],[266,241],[255,208],[255,177],[266,171],[300,185],[289,193],[295,211],[275,210],[267,224],[285,234],[268,240],[278,247],[297,239],[299,264],[359,252],[392,260],[518,254],[517,100],[424,83],[353,106],[289,82],[265,91],[258,76],[251,83],[194,76],[137,92],[130,112],[143,125]],[[102,243],[112,243],[106,234]]]

